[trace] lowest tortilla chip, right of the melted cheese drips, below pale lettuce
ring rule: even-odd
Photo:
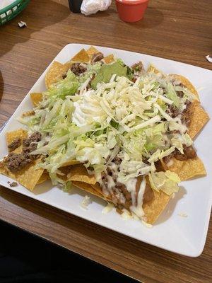
[[[144,219],[148,224],[154,224],[170,200],[165,192],[154,192],[154,199],[143,204]]]

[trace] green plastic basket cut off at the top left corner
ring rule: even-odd
[[[1,0],[0,0],[1,1]],[[8,21],[15,18],[18,13],[28,6],[30,0],[16,0],[12,4],[0,9],[0,25],[4,25]]]

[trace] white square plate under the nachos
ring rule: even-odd
[[[66,47],[59,52],[55,60],[61,63],[67,62],[83,47],[88,48],[89,46],[81,44],[66,45]],[[153,63],[158,69],[167,74],[182,74],[182,76],[186,76],[194,83],[197,90],[199,90],[201,103],[212,117],[212,71],[146,54],[107,47],[97,48],[104,54],[116,54],[117,57],[122,58],[124,62],[129,65],[140,60],[145,67],[147,67],[149,63]],[[49,67],[47,69],[49,69]],[[37,80],[33,88],[31,88],[29,93],[45,91],[45,74],[47,69],[42,76],[40,76],[40,79]],[[30,110],[33,106],[30,102],[29,93],[25,96],[22,103],[20,103],[16,112],[12,115],[10,120],[8,120],[6,127],[4,127],[0,134],[0,160],[7,154],[5,133],[23,127],[16,121],[16,118],[19,117],[23,111]],[[98,199],[98,197],[92,196],[92,204],[88,206],[86,211],[83,210],[80,204],[84,195],[88,195],[88,193],[84,193],[78,189],[73,189],[71,192],[67,193],[63,192],[58,187],[52,188],[51,183],[46,182],[37,186],[34,192],[30,192],[21,185],[18,185],[18,187],[9,187],[7,183],[9,179],[4,175],[0,175],[0,184],[4,187],[8,187],[10,190],[18,191],[35,200],[40,200],[53,207],[92,221],[95,224],[100,224],[108,229],[136,238],[139,241],[150,243],[153,246],[158,246],[182,255],[196,257],[201,254],[204,248],[211,212],[212,151],[209,150],[212,142],[211,125],[212,122],[209,121],[194,143],[199,157],[204,161],[208,175],[204,178],[183,182],[180,192],[174,199],[170,200],[165,212],[163,212],[152,228],[143,226],[141,221],[134,219],[124,220],[122,216],[119,216],[114,210],[108,214],[102,214],[102,209],[105,207],[106,203]],[[183,214],[186,214],[187,217],[183,217]]]

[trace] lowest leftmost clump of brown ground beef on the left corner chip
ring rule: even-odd
[[[6,167],[11,172],[17,172],[20,169],[24,168],[31,162],[31,159],[28,158],[25,154],[14,154],[11,152],[6,157],[5,163]]]

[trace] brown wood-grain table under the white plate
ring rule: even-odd
[[[97,15],[70,13],[65,0],[33,0],[0,28],[0,127],[42,71],[71,42],[117,47],[212,69],[211,0],[150,1],[139,23],[119,20],[114,4]],[[28,27],[19,29],[18,21]],[[0,218],[141,282],[212,282],[212,226],[199,258],[132,240],[0,188]]]

